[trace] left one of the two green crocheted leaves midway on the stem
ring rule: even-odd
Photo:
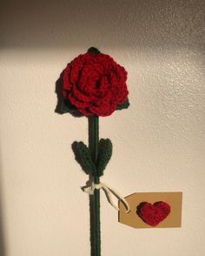
[[[81,165],[86,174],[94,174],[96,172],[96,165],[93,163],[91,153],[87,145],[83,141],[75,142],[73,144],[73,151],[76,155],[76,161]]]

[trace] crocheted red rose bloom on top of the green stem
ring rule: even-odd
[[[63,98],[84,115],[109,116],[129,106],[127,71],[112,57],[90,48],[63,71]]]

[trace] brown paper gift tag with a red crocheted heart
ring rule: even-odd
[[[135,228],[182,226],[182,192],[138,192],[127,196],[130,212],[119,200],[120,223]]]

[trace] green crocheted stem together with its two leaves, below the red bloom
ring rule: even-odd
[[[99,184],[100,176],[103,175],[112,155],[110,139],[101,138],[99,141],[99,117],[89,117],[89,147],[80,141],[74,143],[73,150],[77,162],[84,172],[90,175],[90,180]],[[89,196],[89,210],[91,256],[101,256],[100,190],[98,189]]]

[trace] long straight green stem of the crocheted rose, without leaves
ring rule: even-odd
[[[93,162],[97,163],[99,144],[99,117],[89,118],[89,149]],[[98,170],[93,173],[95,184],[100,183]],[[100,191],[95,190],[94,195],[90,196],[90,241],[91,256],[101,256],[101,223],[100,223]]]

